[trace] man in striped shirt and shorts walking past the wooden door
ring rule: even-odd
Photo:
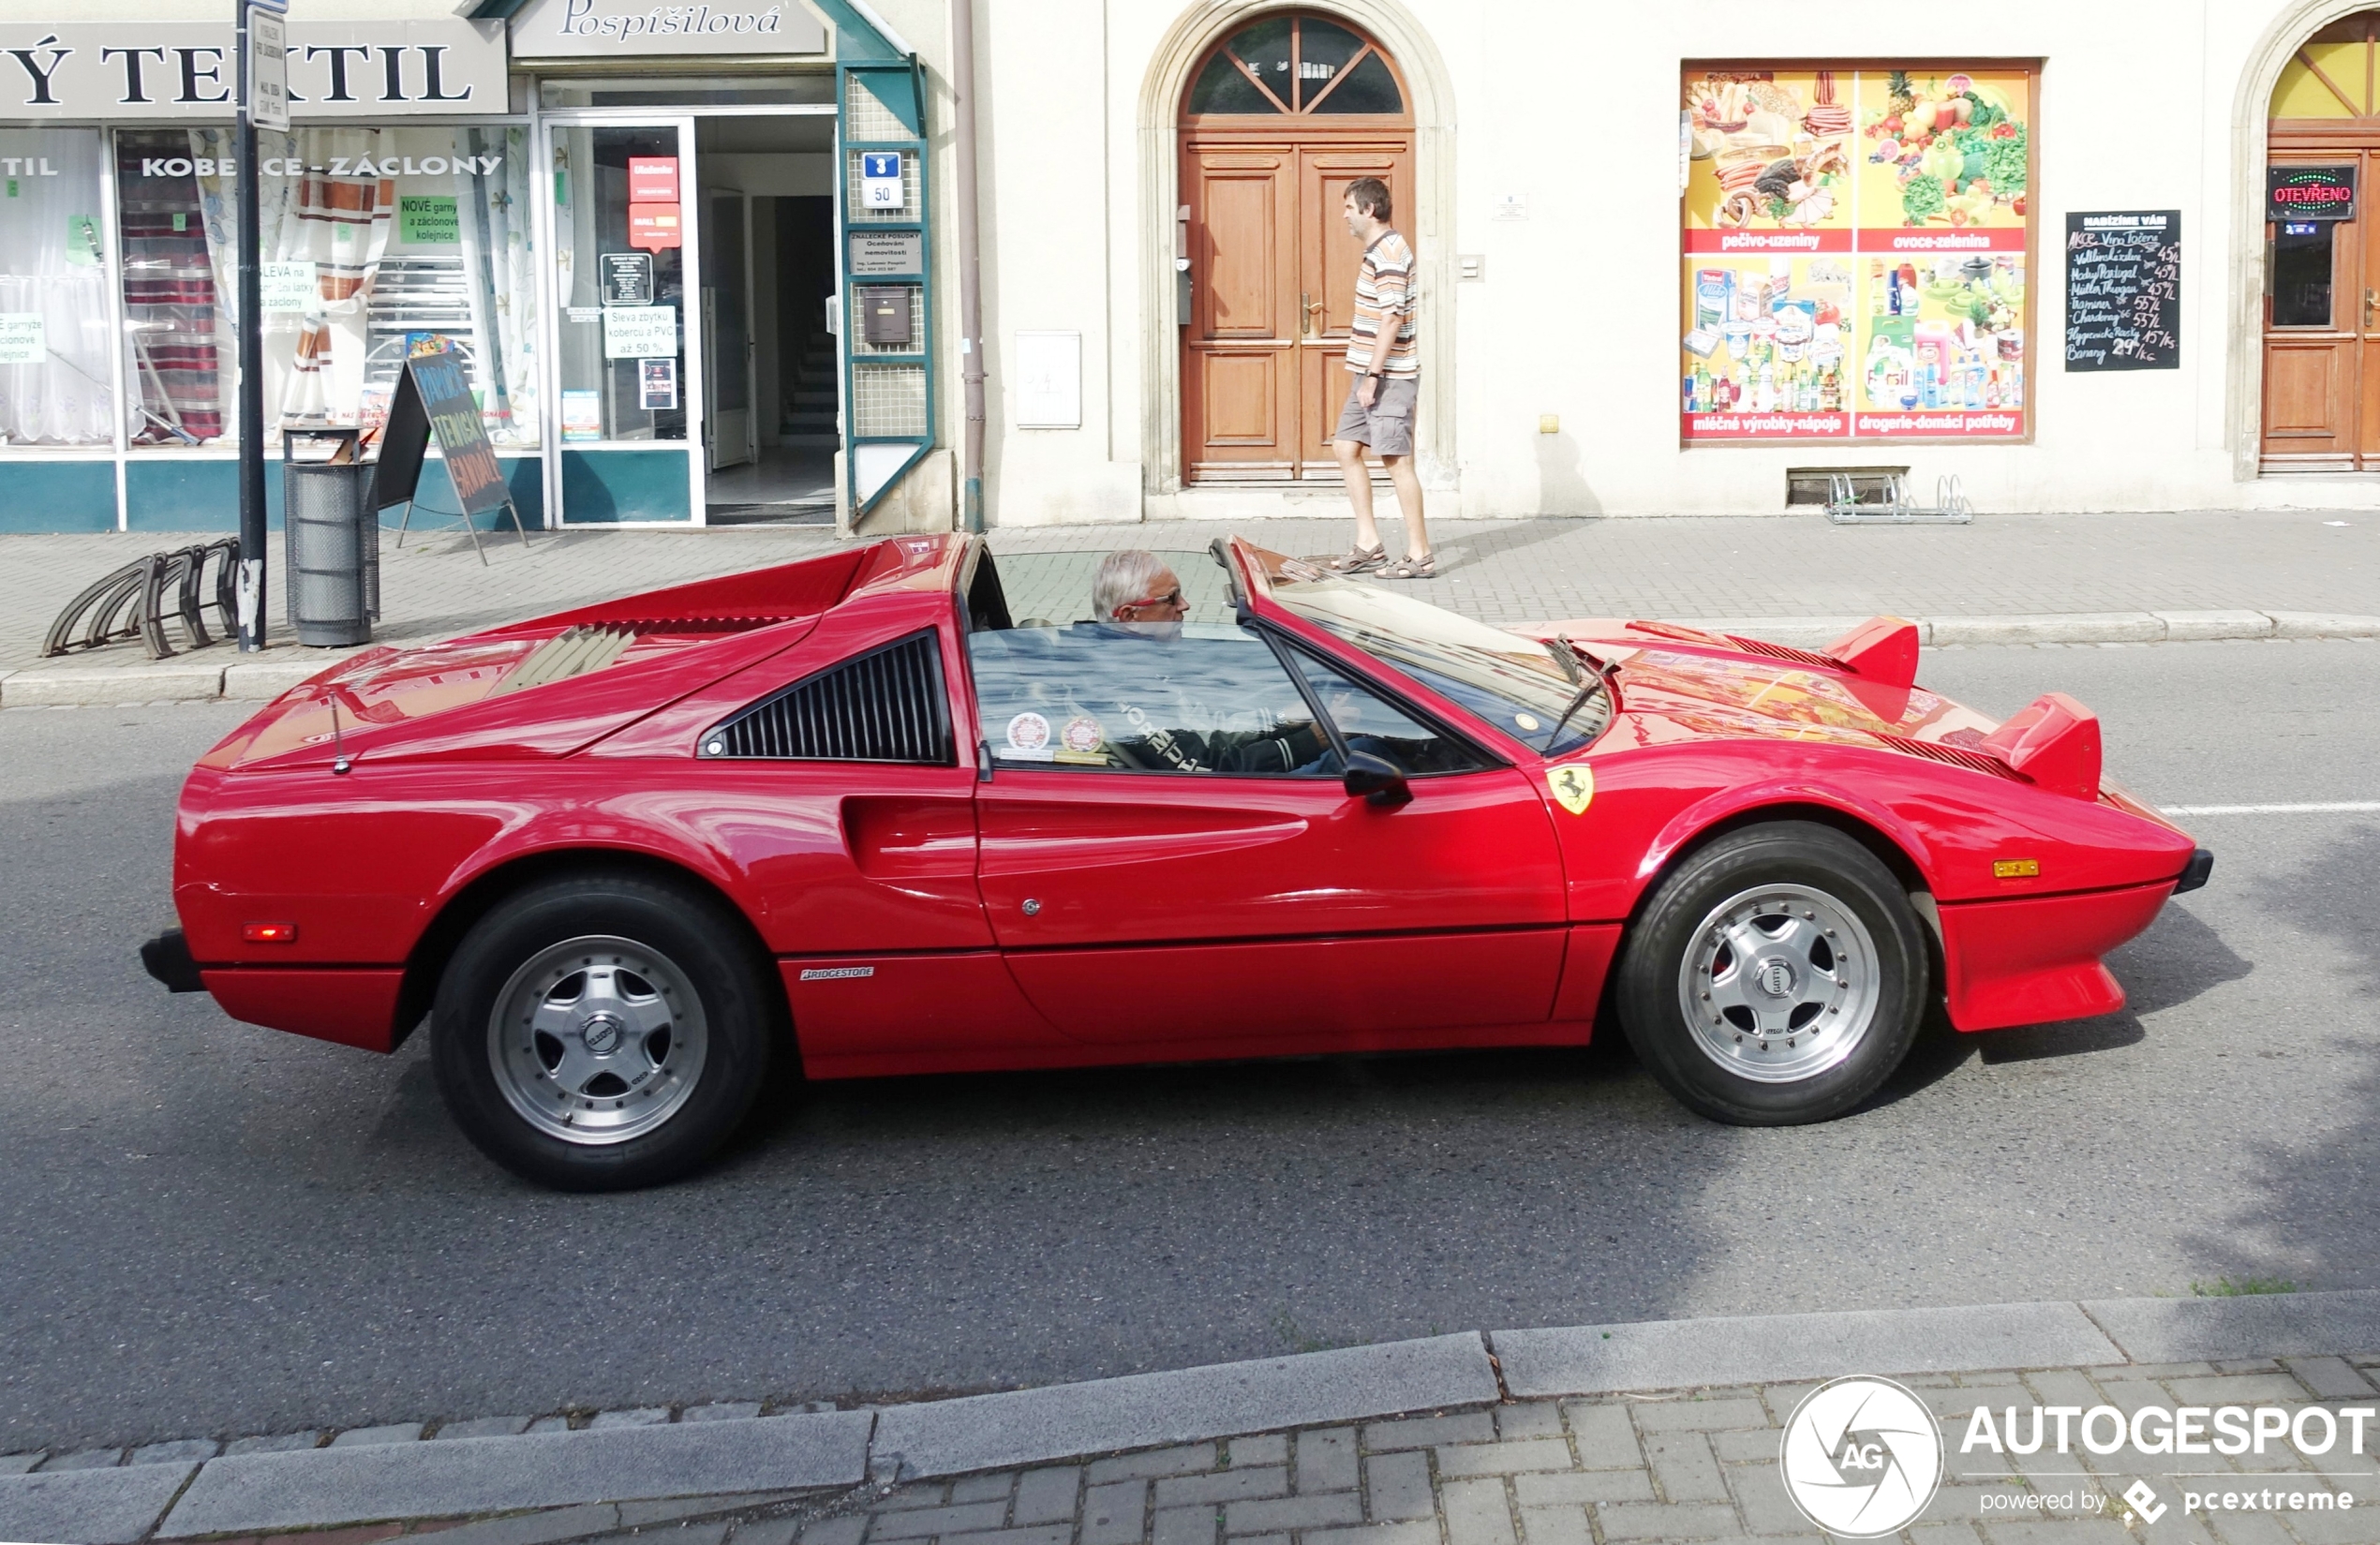
[[[1414,405],[1421,398],[1421,362],[1414,352],[1414,248],[1388,221],[1395,207],[1388,183],[1359,176],[1340,202],[1347,233],[1364,243],[1354,279],[1354,321],[1347,326],[1347,374],[1352,390],[1330,433],[1347,502],[1354,505],[1354,548],[1330,567],[1338,574],[1380,578],[1435,578],[1438,557],[1421,524],[1421,474],[1414,471]],[[1380,457],[1404,514],[1404,557],[1390,562],[1380,526],[1371,519],[1371,469],[1364,448]]]

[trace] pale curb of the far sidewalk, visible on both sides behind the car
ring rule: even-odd
[[[1866,617],[1671,617],[1690,628],[1797,648],[1828,645]],[[2349,612],[2033,612],[2009,617],[1914,617],[1918,643],[2230,643],[2247,638],[2380,638],[2380,617]],[[336,667],[352,650],[309,659],[238,664],[26,667],[0,671],[0,707],[100,707],[126,702],[271,702]]]

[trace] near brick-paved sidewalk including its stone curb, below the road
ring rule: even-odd
[[[657,1407],[581,1414],[578,1431],[514,1416],[19,1455],[0,1462],[0,1538],[1814,1540],[1780,1447],[1818,1381],[1849,1374],[1897,1378],[1937,1421],[1940,1490],[1894,1528],[1906,1545],[2380,1543],[2370,1290],[1466,1331],[852,1412]],[[2035,1407],[2075,1438],[2042,1443]],[[2159,1452],[2190,1407],[2216,1443]],[[1894,1431],[1923,1426],[1852,1421],[1818,1440],[1828,1459],[1852,1445],[1842,1471],[1804,1452],[1802,1476],[1856,1483]]]

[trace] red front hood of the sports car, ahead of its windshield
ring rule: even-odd
[[[1602,617],[1516,631],[1568,638],[1616,667],[1616,745],[1768,738],[1983,755],[1983,738],[1999,728],[1952,698],[1861,676],[1814,650]]]

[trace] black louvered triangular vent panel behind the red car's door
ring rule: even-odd
[[[697,755],[950,767],[957,755],[935,636],[912,633],[795,681],[702,736]]]

